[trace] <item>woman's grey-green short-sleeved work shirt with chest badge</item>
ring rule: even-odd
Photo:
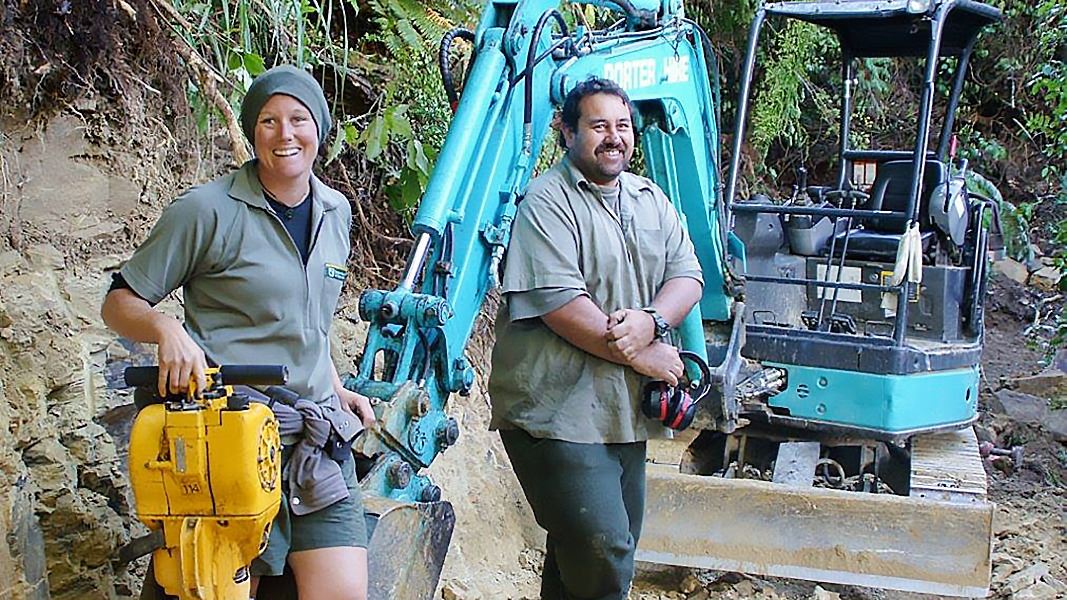
[[[156,303],[181,287],[185,328],[217,364],[282,364],[317,402],[333,394],[330,325],[347,273],[352,209],[312,175],[305,267],[267,204],[255,161],[193,188],[163,210],[122,268]]]

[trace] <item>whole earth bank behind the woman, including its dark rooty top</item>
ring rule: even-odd
[[[133,411],[117,383],[150,352],[117,341],[98,307],[161,208],[228,167],[228,143],[198,141],[180,73],[145,66],[174,54],[147,4],[0,4],[0,598],[130,597],[144,562],[114,562],[142,533],[123,447]],[[364,283],[336,321],[343,367],[363,344]],[[458,598],[537,589],[539,534],[485,406],[478,390],[457,399],[463,436],[432,470],[457,507],[443,594]]]

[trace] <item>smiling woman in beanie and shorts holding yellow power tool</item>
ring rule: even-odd
[[[355,414],[369,426],[370,402],[341,385],[330,360],[352,216],[345,196],[312,173],[331,126],[322,89],[301,69],[274,67],[249,89],[241,126],[255,158],[163,211],[114,275],[103,320],[124,337],[158,346],[161,395],[185,391],[190,378],[202,386],[208,360],[284,364],[289,388],[335,424],[339,417],[347,427],[345,415]],[[184,323],[154,309],[178,287]],[[286,560],[301,598],[366,597],[367,535],[353,462],[339,463],[344,500],[305,515],[300,499],[283,496],[267,550],[251,567],[253,597],[258,579],[282,574]]]

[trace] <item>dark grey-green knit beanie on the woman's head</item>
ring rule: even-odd
[[[256,143],[256,120],[264,105],[274,94],[285,94],[300,100],[312,113],[312,119],[319,127],[319,146],[330,135],[330,105],[322,94],[322,86],[309,73],[292,65],[278,65],[259,75],[249,88],[249,93],[241,101],[241,129],[244,137]]]

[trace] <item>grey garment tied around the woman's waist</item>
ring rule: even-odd
[[[253,400],[270,402],[258,390],[240,388]],[[304,398],[298,399],[294,407],[274,402],[273,410],[282,442],[286,445],[296,442],[282,473],[289,483],[289,510],[298,517],[310,515],[348,498],[340,464],[323,447],[331,430],[345,441],[354,438],[363,430],[360,421],[340,409],[337,396],[321,405]]]

